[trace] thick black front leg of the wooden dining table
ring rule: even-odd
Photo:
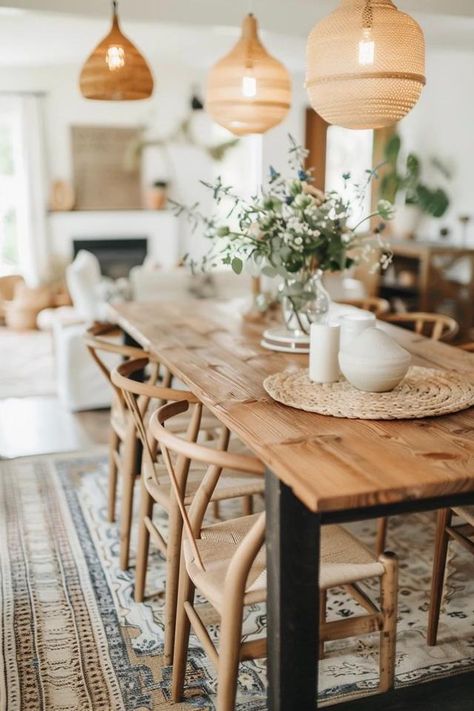
[[[267,470],[268,709],[316,708],[320,517]]]

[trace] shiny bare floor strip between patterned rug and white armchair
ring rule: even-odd
[[[106,444],[109,410],[71,413],[54,396],[0,400],[0,458],[86,450]]]

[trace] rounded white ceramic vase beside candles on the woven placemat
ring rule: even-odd
[[[358,390],[393,390],[405,377],[411,355],[379,328],[368,328],[339,353],[344,377]]]

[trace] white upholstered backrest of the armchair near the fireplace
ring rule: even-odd
[[[85,321],[98,317],[99,285],[102,276],[99,260],[92,252],[81,249],[66,269],[66,284],[74,308]]]

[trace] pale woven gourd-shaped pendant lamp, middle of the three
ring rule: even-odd
[[[286,68],[268,54],[253,14],[244,18],[235,47],[209,72],[206,109],[237,136],[265,133],[281,123],[291,104]]]

